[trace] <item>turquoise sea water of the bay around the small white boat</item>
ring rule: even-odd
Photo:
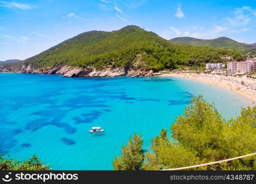
[[[57,170],[111,170],[134,133],[144,149],[168,129],[193,96],[214,101],[223,117],[251,102],[216,86],[175,78],[72,79],[59,75],[0,74],[0,153],[32,155]],[[102,126],[103,134],[89,134]]]

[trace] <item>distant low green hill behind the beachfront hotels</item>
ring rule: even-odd
[[[203,46],[203,47],[225,47],[225,48],[250,48],[249,44],[236,42],[228,37],[219,37],[217,39],[195,39],[193,37],[176,37],[171,39],[173,42],[187,45]]]

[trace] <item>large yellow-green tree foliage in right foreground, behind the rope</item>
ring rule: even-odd
[[[255,153],[255,125],[256,107],[242,109],[238,118],[225,120],[214,104],[198,96],[187,105],[184,115],[174,121],[171,139],[165,129],[152,139],[152,152],[145,153],[140,169],[185,167]],[[195,170],[256,170],[255,158],[250,156]],[[125,167],[131,163],[123,164]]]

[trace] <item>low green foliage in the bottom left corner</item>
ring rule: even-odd
[[[17,161],[0,156],[0,171],[48,171],[50,167],[42,164],[37,156],[25,161]]]

